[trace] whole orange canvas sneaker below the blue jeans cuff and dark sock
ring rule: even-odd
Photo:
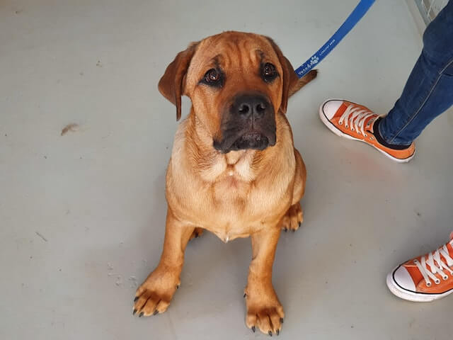
[[[320,106],[319,117],[336,135],[365,142],[396,162],[409,162],[415,154],[414,143],[408,147],[386,146],[382,137],[374,133],[379,115],[360,104],[328,99]]]

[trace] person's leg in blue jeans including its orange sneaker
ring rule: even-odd
[[[453,104],[453,0],[426,28],[423,52],[401,98],[384,118],[350,101],[329,99],[319,108],[336,135],[360,140],[396,162],[415,154],[415,140],[437,115]]]

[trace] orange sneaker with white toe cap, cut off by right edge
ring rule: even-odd
[[[436,251],[409,260],[387,276],[391,293],[404,300],[429,302],[453,293],[453,232]]]

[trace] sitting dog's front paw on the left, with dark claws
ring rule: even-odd
[[[132,314],[149,317],[165,312],[178,288],[179,279],[176,275],[171,271],[166,273],[156,269],[137,289]]]

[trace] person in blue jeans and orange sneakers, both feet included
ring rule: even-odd
[[[415,140],[437,115],[453,104],[453,0],[428,26],[401,98],[385,118],[350,101],[328,100],[319,108],[336,135],[361,140],[397,162],[413,157]],[[389,273],[387,286],[411,301],[432,301],[453,293],[453,233],[450,241]]]

